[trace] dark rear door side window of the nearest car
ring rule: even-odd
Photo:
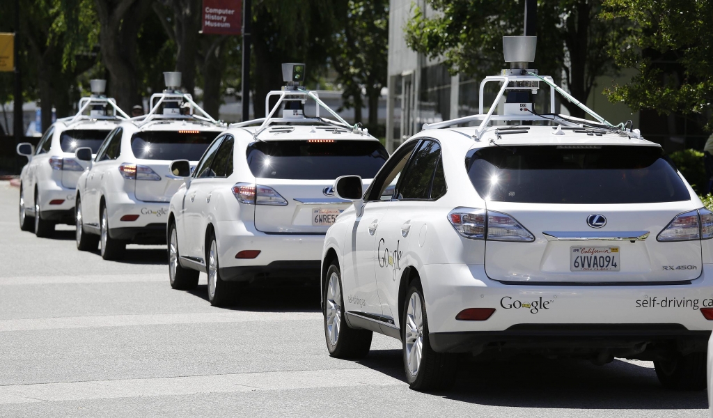
[[[424,141],[411,158],[401,181],[396,185],[398,200],[426,200],[431,197],[431,183],[436,165],[441,159],[441,146],[436,141]]]

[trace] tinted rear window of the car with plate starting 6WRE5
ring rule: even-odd
[[[258,178],[374,178],[387,158],[389,153],[377,141],[260,141],[247,148],[247,165]]]

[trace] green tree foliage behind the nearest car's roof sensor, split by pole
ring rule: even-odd
[[[524,1],[429,0],[434,16],[414,9],[406,43],[431,58],[443,57],[451,73],[482,78],[504,68],[503,36],[523,34]],[[586,101],[595,78],[614,71],[606,50],[617,42],[620,19],[601,19],[600,0],[538,1],[538,51],[534,68]],[[567,101],[573,116],[584,112]]]

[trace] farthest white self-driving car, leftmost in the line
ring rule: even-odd
[[[17,152],[29,159],[20,175],[20,228],[34,230],[38,237],[51,235],[56,223],[74,224],[76,183],[88,167],[75,151],[90,148],[96,153],[106,135],[129,118],[113,98],[102,96],[106,81],[92,80],[91,86],[93,94],[81,98],[78,113],[53,123],[36,150],[29,143],[17,146]],[[107,116],[107,107],[113,116]]]

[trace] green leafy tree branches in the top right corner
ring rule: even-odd
[[[605,0],[606,19],[627,19],[624,41],[609,49],[635,68],[629,83],[606,93],[633,111],[679,113],[713,129],[713,3],[705,0]]]

